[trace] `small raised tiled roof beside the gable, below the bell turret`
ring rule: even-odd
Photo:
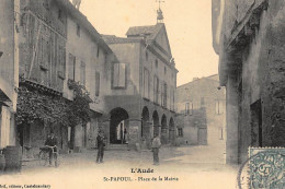
[[[126,35],[128,38],[142,37],[145,35],[147,39],[153,39],[162,26],[163,23],[158,23],[156,25],[149,25],[149,26],[134,26],[128,28]]]

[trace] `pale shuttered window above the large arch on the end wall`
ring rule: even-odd
[[[113,87],[126,87],[126,64],[114,63]]]

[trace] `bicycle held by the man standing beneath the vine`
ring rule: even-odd
[[[38,161],[39,161],[39,165],[42,166],[46,166],[47,164],[49,164],[49,149],[52,149],[52,165],[53,165],[53,161],[55,161],[55,166],[58,167],[59,166],[59,153],[55,152],[56,146],[44,146],[44,147],[39,147],[39,154],[38,154]]]

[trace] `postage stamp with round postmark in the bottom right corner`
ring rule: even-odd
[[[249,147],[249,160],[242,169],[248,177],[240,179],[249,189],[285,189],[285,149]]]

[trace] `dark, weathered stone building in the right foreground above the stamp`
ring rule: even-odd
[[[284,20],[282,0],[213,0],[214,47],[227,88],[227,162],[249,146],[284,146]]]

